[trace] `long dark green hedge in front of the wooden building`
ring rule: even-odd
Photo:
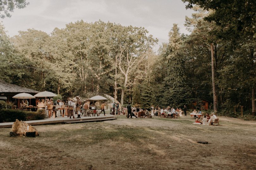
[[[14,109],[1,109],[0,110],[0,123],[2,122],[15,122],[16,119],[22,121],[42,120],[45,118],[44,111],[23,111]]]

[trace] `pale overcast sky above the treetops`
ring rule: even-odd
[[[12,37],[18,31],[29,28],[50,34],[55,27],[83,20],[94,22],[110,21],[121,25],[145,27],[149,34],[158,38],[158,48],[168,42],[168,32],[174,23],[180,32],[189,34],[184,27],[185,16],[193,11],[186,10],[181,0],[27,0],[24,9],[15,9],[11,18],[2,19],[7,34]]]

